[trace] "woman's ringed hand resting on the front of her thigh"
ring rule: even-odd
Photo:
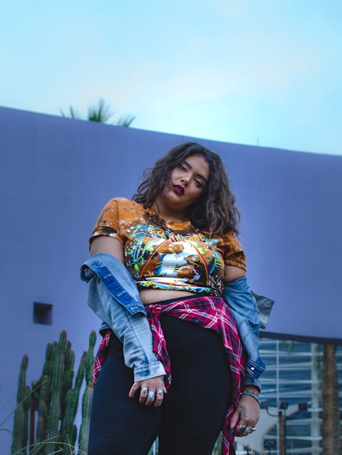
[[[167,393],[163,378],[163,376],[156,376],[155,378],[134,382],[129,391],[129,397],[134,398],[135,393],[140,389],[139,402],[141,404],[160,406],[163,402],[164,393]]]

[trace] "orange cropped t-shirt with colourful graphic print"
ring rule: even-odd
[[[140,289],[171,289],[222,295],[224,266],[246,270],[233,232],[224,236],[196,229],[190,221],[164,221],[154,208],[111,199],[90,237],[110,236],[124,246],[124,264]]]

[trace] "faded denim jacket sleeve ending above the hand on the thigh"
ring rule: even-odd
[[[81,280],[88,282],[88,306],[122,341],[124,362],[134,380],[165,375],[153,353],[152,333],[137,286],[122,262],[110,254],[94,254],[81,267]]]

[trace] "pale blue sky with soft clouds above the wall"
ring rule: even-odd
[[[342,154],[341,0],[0,0],[0,106]]]

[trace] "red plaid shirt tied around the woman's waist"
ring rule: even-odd
[[[192,299],[176,300],[176,302],[170,302],[168,304],[150,304],[146,306],[146,310],[153,335],[153,352],[155,352],[158,360],[163,363],[165,368],[167,388],[171,383],[171,365],[166,341],[159,321],[162,313],[168,313],[172,317],[197,323],[203,328],[215,330],[222,337],[232,376],[232,404],[227,410],[226,419],[222,428],[222,455],[235,454],[235,428],[230,427],[230,422],[239,404],[241,384],[244,379],[245,358],[237,327],[228,305],[226,305],[222,297],[201,296]],[[111,331],[108,330],[98,349],[93,376],[95,382],[105,361],[105,352],[109,344],[110,334]]]

